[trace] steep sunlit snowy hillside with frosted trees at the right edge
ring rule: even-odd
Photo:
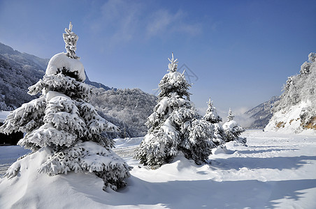
[[[299,75],[287,79],[266,130],[301,132],[316,130],[316,54],[308,55]]]

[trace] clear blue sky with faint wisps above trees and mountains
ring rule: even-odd
[[[73,22],[89,79],[155,93],[171,52],[200,110],[236,114],[280,95],[316,52],[316,1],[0,0],[0,42],[50,58]]]

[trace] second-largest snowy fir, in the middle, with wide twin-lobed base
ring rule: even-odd
[[[196,164],[208,160],[213,144],[213,125],[204,121],[189,101],[184,73],[177,59],[168,59],[168,73],[159,83],[154,112],[148,117],[148,134],[136,149],[135,158],[153,169],[171,162],[179,151]]]

